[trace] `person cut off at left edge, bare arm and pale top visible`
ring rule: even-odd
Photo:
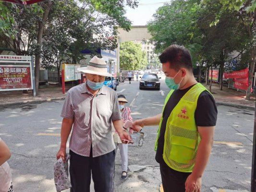
[[[8,146],[0,138],[0,192],[13,192],[12,173],[7,163],[10,157],[11,152]]]

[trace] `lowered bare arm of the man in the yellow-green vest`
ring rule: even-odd
[[[196,153],[195,167],[193,168],[191,175],[187,178],[185,183],[186,192],[194,192],[193,190],[200,190],[202,176],[209,161],[211,148],[213,144],[215,126],[198,126],[197,129],[200,134],[201,141],[200,144],[198,145]]]

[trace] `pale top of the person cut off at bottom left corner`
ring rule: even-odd
[[[0,138],[1,142],[1,138]],[[0,166],[0,192],[8,192],[12,183],[12,173],[7,162]]]

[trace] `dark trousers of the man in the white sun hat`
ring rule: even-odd
[[[113,192],[115,172],[115,150],[92,157],[80,156],[70,150],[70,192],[89,192],[91,175],[95,192]]]

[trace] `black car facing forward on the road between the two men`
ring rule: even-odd
[[[139,88],[154,88],[160,90],[160,79],[155,73],[145,73],[140,80]]]

